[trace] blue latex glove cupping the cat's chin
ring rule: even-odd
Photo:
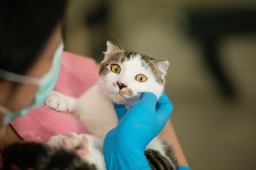
[[[151,170],[144,150],[171,116],[172,103],[165,94],[157,101],[153,93],[143,93],[141,100],[128,112],[123,105],[114,106],[119,123],[104,139],[107,169]]]

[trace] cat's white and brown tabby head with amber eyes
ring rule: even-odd
[[[107,51],[103,53],[98,84],[113,102],[131,106],[140,100],[143,92],[152,92],[160,97],[168,61],[121,50],[109,41]]]

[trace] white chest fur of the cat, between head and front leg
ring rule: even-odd
[[[118,117],[113,103],[98,88],[92,86],[78,100],[74,114],[86,125],[88,130],[102,140],[118,124]]]

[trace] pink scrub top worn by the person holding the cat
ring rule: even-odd
[[[79,97],[98,77],[95,60],[63,51],[59,77],[54,90]],[[85,125],[70,113],[57,112],[46,105],[32,109],[11,126],[24,141],[47,142],[51,136],[69,132],[90,134]]]

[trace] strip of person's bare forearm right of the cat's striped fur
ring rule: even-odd
[[[175,133],[174,127],[172,125],[171,119],[169,119],[164,127],[164,129],[161,131],[159,134],[160,136],[164,136],[164,138],[169,142],[169,144],[172,145],[174,148],[174,152],[177,157],[177,163],[180,166],[187,166],[188,167],[188,162],[186,160],[186,157],[182,151],[182,148],[179,144],[177,135]]]

